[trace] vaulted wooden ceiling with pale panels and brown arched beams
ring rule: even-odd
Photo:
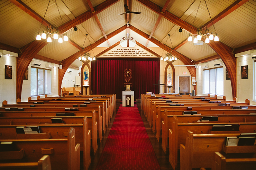
[[[220,41],[202,46],[193,46],[187,39],[189,32],[196,34],[201,25],[207,25],[214,32],[204,0],[56,0],[58,7],[55,0],[51,0],[44,18],[48,2],[0,1],[0,32],[4,32],[0,34],[0,48],[20,53],[17,70],[28,67],[33,58],[44,58],[63,64],[63,69],[59,72],[59,78],[62,78],[68,66],[81,52],[95,48],[102,49],[97,51],[104,51],[113,47],[130,30],[129,33],[134,35],[133,41],[138,42],[137,44],[148,48],[147,50],[154,49],[151,45],[155,44],[165,51],[175,53],[184,64],[191,64],[191,60],[202,63],[221,58],[228,71],[233,73],[231,86],[235,97],[234,53],[256,48],[255,0],[207,0]],[[128,5],[130,11],[141,14],[119,16],[119,13],[125,11],[124,4]],[[128,30],[127,21],[130,24]],[[36,41],[38,29],[44,30],[50,23],[56,24],[59,32],[67,32],[69,41],[62,44]],[[75,26],[78,31],[73,30]],[[178,31],[180,28],[183,29],[181,33]],[[85,34],[88,34],[90,41],[85,41]],[[171,35],[171,41],[168,34]],[[101,47],[97,47],[99,45]],[[95,56],[99,54],[100,52]],[[156,54],[161,55],[159,52]],[[19,63],[23,64],[20,66]],[[195,69],[188,69],[191,75],[195,75]],[[21,75],[23,74],[25,69],[21,70]],[[22,79],[17,79],[17,84],[20,84],[18,87],[22,87],[22,82]],[[18,97],[21,95],[19,90],[21,93],[21,89],[18,89]]]

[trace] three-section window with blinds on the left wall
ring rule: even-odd
[[[31,67],[30,95],[51,94],[51,70]]]

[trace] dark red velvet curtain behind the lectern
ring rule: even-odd
[[[124,70],[131,69],[131,90],[134,99],[146,92],[159,93],[158,84],[160,59],[159,58],[97,58],[92,62],[92,92],[93,94],[116,94],[122,98],[125,78]]]

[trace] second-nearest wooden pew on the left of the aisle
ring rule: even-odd
[[[75,129],[68,130],[67,139],[1,139],[0,142],[12,142],[17,151],[2,151],[1,163],[37,162],[49,155],[52,169],[78,170],[80,165],[80,144],[75,146]]]

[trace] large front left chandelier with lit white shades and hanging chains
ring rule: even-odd
[[[49,3],[50,3],[50,1],[51,0],[49,0]],[[48,6],[46,8],[45,14],[46,14],[47,9],[49,7],[49,3],[48,3]],[[55,3],[56,3],[56,1],[55,1]],[[57,3],[56,3],[56,6],[57,6],[58,12],[60,14],[60,11],[59,11]],[[44,14],[44,18],[45,18],[45,14]],[[60,17],[61,17],[61,14],[60,14]],[[52,38],[53,38],[53,39],[58,39],[58,42],[60,42],[60,43],[62,43],[63,40],[64,41],[68,41],[67,32],[65,32],[63,34],[60,34],[59,30],[57,29],[57,26],[54,25],[54,24],[49,25],[46,28],[46,30],[42,31],[42,34],[40,34],[40,29],[42,27],[43,21],[44,21],[44,19],[42,20],[41,26],[40,26],[40,28],[38,30],[38,34],[36,36],[36,40],[41,40],[41,39],[46,39],[47,38],[47,42],[52,42]],[[62,18],[61,18],[61,21],[62,21]],[[63,21],[62,21],[62,24],[63,24]],[[62,36],[63,36],[63,39],[62,39]]]

